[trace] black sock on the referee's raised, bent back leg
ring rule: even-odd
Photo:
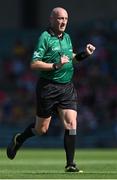
[[[23,143],[26,139],[35,136],[32,129],[35,127],[35,123],[30,124],[20,136],[17,137],[17,141],[19,143]]]

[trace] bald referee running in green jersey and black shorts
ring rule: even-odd
[[[78,104],[72,83],[73,61],[87,58],[93,54],[95,47],[88,44],[84,52],[73,52],[70,36],[65,32],[68,13],[64,8],[54,8],[49,21],[50,27],[40,35],[30,65],[32,70],[40,72],[36,86],[36,120],[24,132],[13,136],[7,156],[14,159],[24,141],[46,133],[56,109],[64,125],[65,171],[79,172],[74,162]]]

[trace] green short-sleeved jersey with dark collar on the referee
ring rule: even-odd
[[[69,58],[68,63],[57,70],[40,71],[40,77],[58,83],[67,83],[71,81],[73,76],[73,48],[70,36],[64,33],[62,38],[58,38],[49,31],[44,31],[38,39],[32,61],[59,63],[63,55]]]

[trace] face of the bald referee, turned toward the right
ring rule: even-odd
[[[52,28],[57,33],[62,33],[66,29],[66,25],[68,22],[68,14],[65,10],[59,10],[54,14],[53,17],[51,17],[51,25]]]

